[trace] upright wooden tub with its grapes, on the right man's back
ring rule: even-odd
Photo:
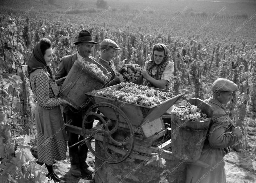
[[[188,99],[187,106],[173,110],[172,152],[175,157],[187,162],[200,158],[212,113],[211,106],[198,98]]]

